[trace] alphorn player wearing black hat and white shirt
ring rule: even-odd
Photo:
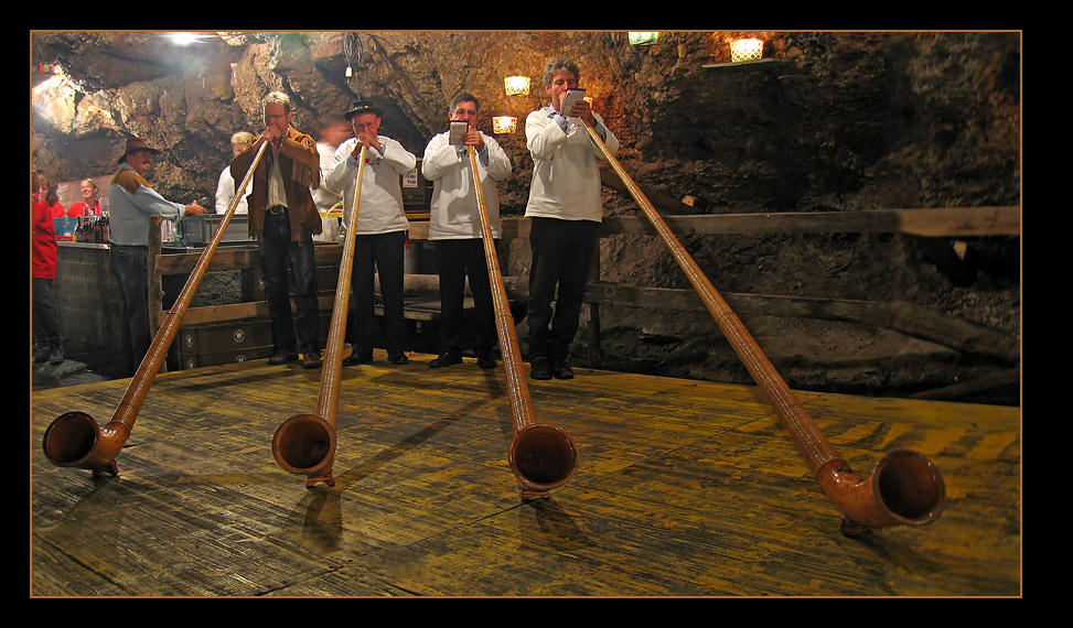
[[[417,165],[417,158],[390,138],[378,134],[382,111],[369,100],[357,100],[343,117],[354,129],[354,137],[335,151],[335,165],[325,175],[324,184],[343,195],[343,225],[356,230],[354,268],[351,288],[354,290],[354,325],[350,327],[353,351],[344,365],[363,364],[373,359],[376,325],[373,285],[374,268],[380,280],[384,297],[384,344],[391,364],[404,365],[406,356],[406,325],[403,312],[403,256],[409,221],[403,210],[403,190],[399,177]],[[365,148],[365,171],[357,217],[354,194],[358,160]]]

